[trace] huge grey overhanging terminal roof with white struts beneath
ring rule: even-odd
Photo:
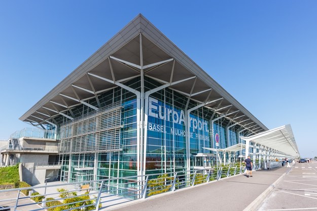
[[[87,104],[88,99],[116,87],[115,82],[124,83],[140,76],[141,60],[145,76],[161,84],[184,80],[169,88],[197,102],[208,102],[205,106],[219,114],[231,114],[226,118],[241,126],[248,125],[254,133],[268,130],[141,14],[34,104],[20,120],[34,124],[65,116],[66,111],[78,104]]]

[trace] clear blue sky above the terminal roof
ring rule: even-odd
[[[0,1],[0,139],[142,13],[269,129],[317,155],[317,1]]]

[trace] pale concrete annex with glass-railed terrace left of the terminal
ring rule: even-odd
[[[55,132],[40,128],[24,128],[11,135],[0,149],[2,166],[21,163],[20,178],[31,185],[44,183],[45,179],[58,179],[60,165],[57,156]]]

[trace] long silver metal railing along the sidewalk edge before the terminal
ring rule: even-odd
[[[221,180],[243,172],[243,166],[223,166],[218,169],[218,173],[216,168],[211,168],[0,190],[0,195],[7,195],[8,192],[13,191],[17,192],[18,195],[15,198],[0,200],[0,204],[7,204],[14,210],[22,207],[28,210],[44,210],[60,206],[63,206],[62,209],[72,210],[75,209],[74,205],[76,203],[77,208],[94,206],[93,209],[101,210],[115,204],[147,198],[160,193],[173,192],[198,184]],[[72,190],[66,190],[65,187],[71,187]],[[81,187],[81,189],[76,190],[76,187]],[[57,191],[57,189],[60,190]],[[48,193],[46,193],[46,190],[49,190]],[[28,191],[38,192],[39,194],[27,195],[28,193],[26,193],[26,196],[20,194]],[[28,200],[38,200],[39,198],[43,198],[43,201]],[[81,201],[74,201],[76,198],[81,198]],[[60,203],[61,201],[63,203]],[[33,209],[30,207],[36,204],[42,206]]]

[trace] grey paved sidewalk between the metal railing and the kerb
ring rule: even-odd
[[[107,210],[256,210],[273,186],[291,168],[278,167],[272,170],[253,171],[253,177],[245,175],[222,179],[218,182],[197,185],[112,206]]]

